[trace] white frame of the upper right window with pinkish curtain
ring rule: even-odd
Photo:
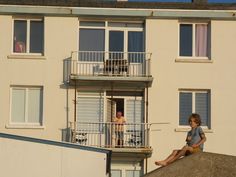
[[[181,25],[192,25],[192,56],[181,56],[180,55],[180,27]],[[190,21],[180,21],[179,25],[178,25],[178,59],[196,59],[196,60],[211,60],[210,56],[211,56],[211,52],[210,52],[210,43],[211,43],[211,36],[207,37],[207,56],[196,56],[196,25],[197,24],[204,24],[207,25],[207,33],[211,34],[211,32],[209,30],[211,30],[211,28],[209,28],[210,22],[209,21],[198,21],[198,22],[190,22]]]

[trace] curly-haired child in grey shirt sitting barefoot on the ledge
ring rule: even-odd
[[[191,130],[187,134],[186,146],[184,146],[182,149],[174,150],[165,160],[156,161],[156,165],[166,166],[182,156],[187,156],[196,152],[203,151],[203,144],[206,141],[206,137],[202,128],[200,127],[200,115],[190,115],[188,122]]]

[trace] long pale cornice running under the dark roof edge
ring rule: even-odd
[[[75,17],[119,17],[119,18],[209,18],[236,19],[236,10],[192,10],[192,9],[132,9],[0,5],[0,14],[8,15],[46,15]]]

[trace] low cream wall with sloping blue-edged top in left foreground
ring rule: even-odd
[[[107,176],[106,153],[47,143],[0,137],[0,159],[1,176],[7,177]]]

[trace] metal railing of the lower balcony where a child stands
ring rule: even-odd
[[[80,145],[103,148],[150,148],[150,124],[147,123],[71,122],[70,126],[71,141]]]

